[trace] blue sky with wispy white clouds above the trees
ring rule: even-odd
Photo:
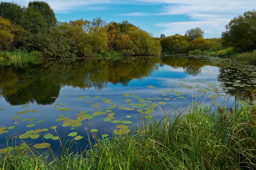
[[[8,1],[8,2],[12,2]],[[27,5],[29,0],[15,3]],[[160,37],[200,27],[204,38],[217,38],[225,25],[245,11],[256,7],[256,0],[46,0],[59,21],[100,17],[128,22]]]

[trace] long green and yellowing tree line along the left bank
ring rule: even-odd
[[[0,50],[39,51],[44,57],[97,55],[160,55],[159,39],[123,21],[106,23],[100,17],[58,22],[49,4],[28,6],[0,3]]]

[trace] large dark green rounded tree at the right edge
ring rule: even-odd
[[[242,51],[256,49],[256,11],[246,11],[234,17],[222,32],[224,46],[231,46]]]

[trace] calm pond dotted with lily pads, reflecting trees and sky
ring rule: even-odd
[[[165,109],[232,107],[256,88],[255,66],[184,55],[2,61],[0,75],[0,148],[16,136],[54,152],[60,140],[85,149],[92,133],[128,133],[139,116],[161,119]]]

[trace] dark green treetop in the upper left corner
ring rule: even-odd
[[[14,2],[0,3],[0,17],[8,19],[12,24],[20,25],[25,7]]]

